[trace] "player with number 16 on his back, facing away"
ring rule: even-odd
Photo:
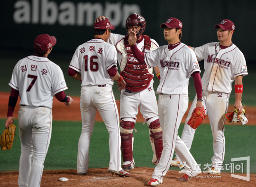
[[[94,38],[77,47],[69,65],[68,74],[82,81],[82,133],[77,155],[77,172],[80,175],[87,173],[90,139],[98,110],[110,134],[109,172],[130,176],[121,168],[119,114],[112,91],[114,80],[118,81],[119,90],[125,88],[125,81],[117,71],[115,47],[107,43],[114,28],[109,20],[95,23]]]

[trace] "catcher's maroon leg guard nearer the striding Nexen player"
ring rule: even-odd
[[[147,119],[147,125],[149,128],[149,139],[151,142],[153,155],[153,164],[157,165],[163,151],[163,131],[161,129],[158,116]]]

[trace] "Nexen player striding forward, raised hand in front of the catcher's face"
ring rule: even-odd
[[[137,60],[145,63],[149,67],[158,66],[161,80],[156,90],[159,94],[158,114],[161,127],[163,128],[163,152],[161,159],[154,169],[152,178],[147,183],[149,186],[158,186],[162,183],[163,177],[167,173],[174,148],[186,162],[183,177],[179,181],[188,181],[192,177],[201,173],[199,166],[192,157],[185,143],[178,136],[178,128],[182,117],[188,107],[188,83],[192,76],[195,83],[196,92],[201,99],[201,77],[200,67],[193,51],[185,44],[181,43],[182,22],[176,18],[167,19],[161,24],[164,28],[165,40],[168,45],[161,46],[155,51],[141,53],[136,43],[136,33],[129,30],[129,44]],[[197,101],[196,107],[202,107],[201,100]]]

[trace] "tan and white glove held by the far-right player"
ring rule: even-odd
[[[224,114],[224,117],[227,119],[229,123],[239,123],[241,122],[242,125],[245,125],[248,120],[245,116],[245,109],[243,111],[238,111],[237,108],[234,109],[233,112],[227,112]]]

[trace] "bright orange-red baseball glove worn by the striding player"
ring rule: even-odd
[[[188,121],[188,125],[191,126],[192,129],[196,129],[201,123],[203,122],[205,118],[205,109],[204,107],[196,107],[193,112],[192,116],[190,117]]]

